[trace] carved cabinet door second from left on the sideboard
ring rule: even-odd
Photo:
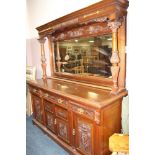
[[[55,116],[54,114],[45,111],[45,116],[46,116],[46,126],[48,129],[50,129],[51,131],[53,131],[55,133],[55,124],[56,124],[56,120],[55,120]]]

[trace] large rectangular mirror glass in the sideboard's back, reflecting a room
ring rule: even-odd
[[[111,34],[56,43],[55,55],[57,72],[111,77]]]

